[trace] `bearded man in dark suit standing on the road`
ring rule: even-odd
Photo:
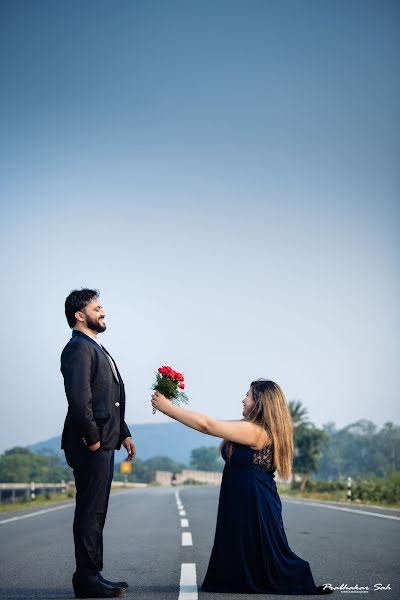
[[[114,598],[128,584],[103,578],[103,527],[114,469],[114,450],[136,455],[124,421],[125,390],[117,365],[97,340],[106,329],[97,290],[72,291],[65,301],[72,338],[61,355],[68,413],[61,447],[74,470],[74,542],[77,598]]]

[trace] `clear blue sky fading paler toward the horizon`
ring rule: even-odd
[[[83,285],[129,423],[164,420],[161,364],[220,418],[263,376],[319,425],[398,422],[398,23],[388,1],[2,1],[0,451],[60,432]]]

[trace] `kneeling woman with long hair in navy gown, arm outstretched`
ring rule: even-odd
[[[152,405],[188,427],[224,439],[217,527],[202,591],[332,593],[315,585],[309,563],[292,552],[283,527],[274,472],[289,477],[294,447],[281,388],[273,381],[253,381],[240,421],[220,421],[174,406],[159,392]]]

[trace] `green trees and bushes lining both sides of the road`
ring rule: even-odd
[[[380,429],[361,419],[338,429],[333,422],[318,428],[308,419],[307,409],[299,400],[291,400],[289,409],[294,426],[295,456],[293,480],[278,484],[281,494],[318,500],[347,501],[347,480],[352,479],[352,502],[400,507],[400,427],[387,422]],[[189,468],[221,471],[223,461],[215,446],[192,450]],[[186,465],[168,456],[148,460],[136,459],[128,482],[154,484],[157,470],[179,473]],[[115,465],[114,479],[124,481],[120,463]],[[54,451],[33,453],[15,447],[0,455],[0,483],[60,483],[73,480],[72,469]],[[10,496],[2,494],[0,510],[10,504]],[[51,496],[51,498],[50,498]],[[61,498],[66,495],[62,494]],[[38,496],[39,502],[54,501],[54,494]],[[57,498],[58,499],[58,498]],[[25,498],[12,498],[26,506]]]

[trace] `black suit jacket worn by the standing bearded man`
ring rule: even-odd
[[[114,361],[115,364],[115,361]],[[61,354],[68,413],[61,448],[100,441],[105,450],[119,449],[131,434],[124,421],[125,388],[118,380],[106,350],[84,333],[73,330]]]

